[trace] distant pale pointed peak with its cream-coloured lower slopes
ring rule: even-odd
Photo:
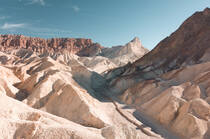
[[[79,60],[94,71],[105,73],[110,69],[134,62],[148,52],[149,50],[142,46],[139,38],[135,37],[125,45],[102,48],[96,56],[81,57]]]

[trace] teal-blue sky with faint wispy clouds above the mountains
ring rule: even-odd
[[[0,34],[91,38],[103,46],[134,37],[154,48],[210,0],[0,0]]]

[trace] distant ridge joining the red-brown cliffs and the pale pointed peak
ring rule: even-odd
[[[66,53],[76,54],[80,56],[79,61],[98,73],[134,62],[148,52],[138,38],[134,38],[125,46],[104,48],[99,43],[93,43],[91,39],[42,39],[23,35],[0,35],[0,51],[9,54],[20,49],[22,49],[21,53],[25,53],[23,49],[27,49],[27,51],[36,52],[37,55],[51,56],[54,59]],[[2,55],[0,61],[5,62],[7,60],[5,58]]]

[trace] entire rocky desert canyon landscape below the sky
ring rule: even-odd
[[[0,36],[0,137],[209,139],[210,9],[153,50],[139,38]]]

